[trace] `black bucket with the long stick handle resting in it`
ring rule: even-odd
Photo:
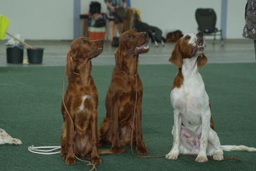
[[[43,61],[44,48],[27,48],[28,63],[40,64]]]

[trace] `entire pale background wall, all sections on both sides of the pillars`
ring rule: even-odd
[[[72,40],[73,1],[76,0],[1,0],[0,14],[10,19],[8,33],[19,32],[31,40]],[[90,1],[99,1],[106,11],[104,0],[81,0],[81,13],[88,13]],[[227,38],[243,38],[244,6],[246,0],[227,0]],[[196,8],[214,8],[220,28],[221,0],[131,0],[131,6],[141,11],[141,19],[166,33],[180,29],[196,32]],[[9,39],[6,36],[6,39]]]

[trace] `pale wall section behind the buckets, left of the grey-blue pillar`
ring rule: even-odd
[[[10,20],[7,32],[20,33],[25,39],[73,38],[73,1],[70,0],[1,0],[0,14]]]

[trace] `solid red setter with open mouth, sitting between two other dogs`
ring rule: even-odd
[[[134,30],[122,33],[119,38],[115,68],[106,95],[106,118],[99,131],[99,145],[111,144],[114,154],[125,152],[120,146],[130,144],[131,138],[139,154],[148,153],[141,131],[143,85],[138,74],[139,54],[148,52],[149,48],[143,45],[147,41],[147,33]]]

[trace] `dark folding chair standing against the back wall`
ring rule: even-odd
[[[216,40],[216,35],[221,37],[221,46],[224,45],[222,30],[216,28],[216,13],[212,8],[198,8],[195,13],[196,22],[198,24],[198,31],[204,32],[206,36],[214,36],[214,42]]]

